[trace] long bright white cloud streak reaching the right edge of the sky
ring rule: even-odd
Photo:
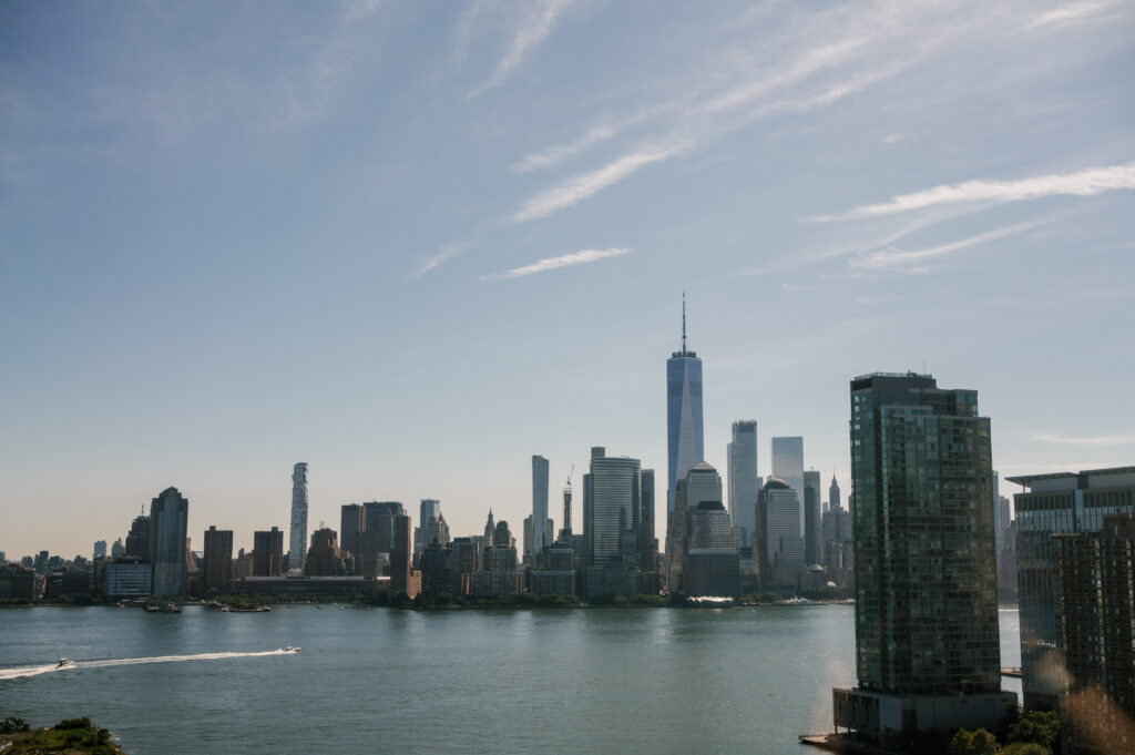
[[[1020,202],[1043,196],[1091,196],[1116,188],[1135,188],[1135,162],[1085,168],[1075,173],[1034,176],[1019,181],[967,181],[943,184],[911,194],[892,196],[878,204],[863,204],[836,215],[812,218],[817,221],[855,220],[908,212],[958,202]]]

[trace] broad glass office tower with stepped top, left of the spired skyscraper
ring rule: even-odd
[[[638,459],[607,456],[591,448],[591,471],[583,476],[583,537],[590,569],[637,569],[638,559],[624,562],[625,531],[637,543],[641,515],[641,469]],[[637,546],[634,547],[637,552]]]

